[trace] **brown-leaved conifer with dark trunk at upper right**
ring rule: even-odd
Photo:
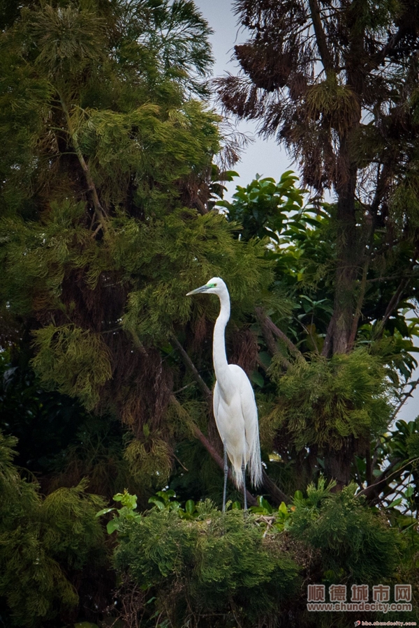
[[[417,294],[418,7],[238,0],[235,8],[249,40],[235,46],[242,73],[218,80],[219,97],[284,142],[304,184],[334,191],[332,314],[321,354],[349,354],[374,320],[372,298],[380,295],[377,339]],[[343,484],[346,447],[346,461],[338,450],[326,461]]]

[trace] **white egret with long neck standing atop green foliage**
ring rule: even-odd
[[[224,332],[230,318],[230,295],[219,277],[213,277],[196,290],[186,294],[216,294],[220,299],[220,313],[215,322],[212,359],[216,382],[213,407],[216,426],[224,447],[223,511],[226,509],[227,456],[233,465],[233,478],[237,488],[243,486],[244,509],[247,509],[245,472],[249,472],[253,486],[262,483],[260,461],[258,408],[249,377],[237,364],[228,364]]]

